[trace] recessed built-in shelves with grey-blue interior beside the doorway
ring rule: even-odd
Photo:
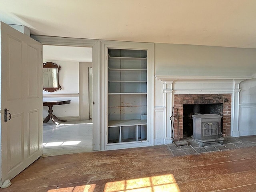
[[[147,141],[147,51],[108,49],[108,140]]]

